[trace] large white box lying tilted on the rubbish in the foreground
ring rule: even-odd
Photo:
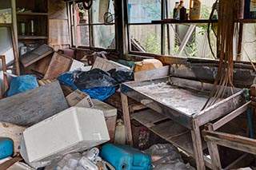
[[[21,154],[26,163],[52,161],[110,140],[101,110],[71,107],[22,133]]]

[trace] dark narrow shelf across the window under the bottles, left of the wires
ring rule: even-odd
[[[158,21],[152,21],[153,24],[207,24],[209,22],[208,19],[198,19],[198,20],[176,20],[176,19],[164,19]],[[218,20],[212,20],[211,22],[218,22]]]

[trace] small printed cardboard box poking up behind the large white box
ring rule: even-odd
[[[81,92],[78,89],[70,93],[66,97],[66,101],[70,107],[77,106],[83,108],[92,108],[94,106],[93,101],[91,101],[90,99],[90,96],[84,92]]]

